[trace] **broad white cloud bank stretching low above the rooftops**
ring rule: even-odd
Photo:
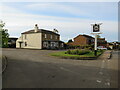
[[[39,28],[48,30],[53,30],[54,28],[58,29],[61,34],[61,40],[67,41],[81,33],[90,34],[90,24],[102,22],[102,36],[106,37],[109,41],[117,39],[117,35],[115,35],[118,33],[116,21],[35,15],[24,13],[19,9],[4,4],[2,5],[2,8],[1,19],[6,23],[6,28],[8,28],[11,36],[19,37],[21,32],[34,29],[34,25],[37,23]],[[114,34],[112,35],[112,33]]]

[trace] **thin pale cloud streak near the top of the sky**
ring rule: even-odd
[[[59,14],[59,15],[74,15],[74,16],[93,16],[90,13],[79,9],[78,7],[74,7],[73,5],[69,5],[66,3],[65,5],[62,3],[30,3],[25,6],[25,8],[38,11],[38,12],[48,12],[49,14]]]

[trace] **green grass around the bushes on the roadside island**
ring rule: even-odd
[[[51,53],[51,56],[57,56],[57,57],[75,57],[75,58],[84,58],[84,57],[96,57],[94,55],[94,52],[90,52],[84,55],[71,55],[71,54],[65,54],[66,51],[60,51],[60,52],[56,52],[56,53]],[[104,51],[98,51],[97,52],[97,56],[101,55]]]

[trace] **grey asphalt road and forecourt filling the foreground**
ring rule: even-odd
[[[72,60],[49,56],[53,50],[3,49],[8,67],[3,88],[116,88],[118,51],[107,59]]]

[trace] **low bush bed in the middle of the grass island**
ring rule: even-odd
[[[75,50],[68,50],[65,52],[65,54],[72,54],[72,55],[83,55],[89,53],[89,50],[80,50],[80,49],[75,49]]]

